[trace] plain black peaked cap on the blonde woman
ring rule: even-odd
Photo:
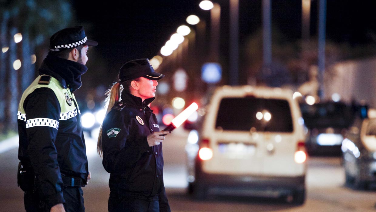
[[[154,71],[153,66],[150,65],[149,59],[131,60],[121,66],[119,72],[119,83],[139,77],[145,77],[149,80],[160,80],[164,75]]]

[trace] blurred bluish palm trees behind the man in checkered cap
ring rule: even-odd
[[[16,126],[20,94],[35,77],[30,56],[42,58],[45,51],[36,50],[41,46],[47,50],[46,41],[70,23],[73,11],[67,0],[5,0],[0,3],[0,14],[0,45],[9,47],[0,57],[0,102],[4,104],[0,105],[0,132],[4,132]],[[19,44],[12,41],[15,33],[23,36]],[[15,71],[12,64],[18,58],[22,66]]]

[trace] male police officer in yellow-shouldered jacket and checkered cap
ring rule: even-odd
[[[27,212],[83,212],[90,179],[80,110],[73,92],[87,71],[87,51],[96,46],[82,26],[62,29],[18,105],[18,184]]]

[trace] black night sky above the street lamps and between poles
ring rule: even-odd
[[[73,1],[73,0],[72,0]],[[111,75],[132,59],[152,58],[188,15],[207,23],[210,12],[199,8],[200,0],[73,1],[77,23],[85,26],[88,37]],[[228,54],[229,0],[221,5],[221,50]],[[301,0],[272,0],[272,24],[290,41],[301,36]],[[326,39],[366,45],[375,42],[376,1],[327,0]],[[317,36],[317,3],[311,3],[311,38]],[[262,26],[262,0],[239,0],[240,45]],[[186,24],[188,25],[188,24]],[[90,68],[90,67],[89,67]]]

